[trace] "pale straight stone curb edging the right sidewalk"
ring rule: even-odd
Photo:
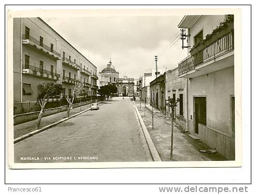
[[[146,126],[145,126],[145,124],[144,124],[144,122],[143,122],[143,120],[142,120],[142,117],[141,117],[141,115],[140,115],[140,113],[139,113],[137,107],[134,105],[134,102],[133,102],[133,106],[134,106],[134,108],[135,108],[135,110],[136,110],[136,113],[137,113],[137,116],[138,116],[138,118],[139,118],[140,125],[141,125],[142,131],[143,131],[143,133],[144,133],[144,137],[145,137],[145,139],[146,139],[146,143],[147,143],[147,145],[149,146],[150,153],[151,153],[151,156],[152,156],[153,160],[154,160],[154,161],[161,161],[161,158],[160,158],[160,156],[158,155],[158,152],[157,152],[157,150],[156,150],[156,147],[155,147],[155,145],[154,145],[154,143],[153,143],[153,141],[152,141],[152,139],[151,139],[151,137],[150,137],[149,131],[147,131]]]

